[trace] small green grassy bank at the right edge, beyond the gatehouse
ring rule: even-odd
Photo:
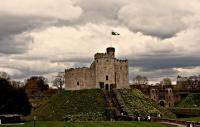
[[[185,99],[180,101],[176,107],[182,108],[200,108],[200,93],[189,94]]]

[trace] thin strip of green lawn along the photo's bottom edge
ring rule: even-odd
[[[3,125],[2,127],[33,127],[33,122],[24,125]],[[36,127],[175,127],[155,122],[36,122]]]

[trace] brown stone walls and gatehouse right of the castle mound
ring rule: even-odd
[[[176,85],[161,82],[156,85],[132,84],[130,87],[141,90],[161,106],[171,107],[190,93],[200,93],[200,76],[178,76]]]

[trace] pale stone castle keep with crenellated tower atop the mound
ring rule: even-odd
[[[115,48],[109,47],[106,53],[96,53],[90,67],[65,70],[65,90],[129,87],[128,60],[115,58]]]

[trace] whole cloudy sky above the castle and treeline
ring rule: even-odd
[[[111,41],[130,79],[199,75],[200,1],[1,0],[0,71],[13,79],[89,66]]]

